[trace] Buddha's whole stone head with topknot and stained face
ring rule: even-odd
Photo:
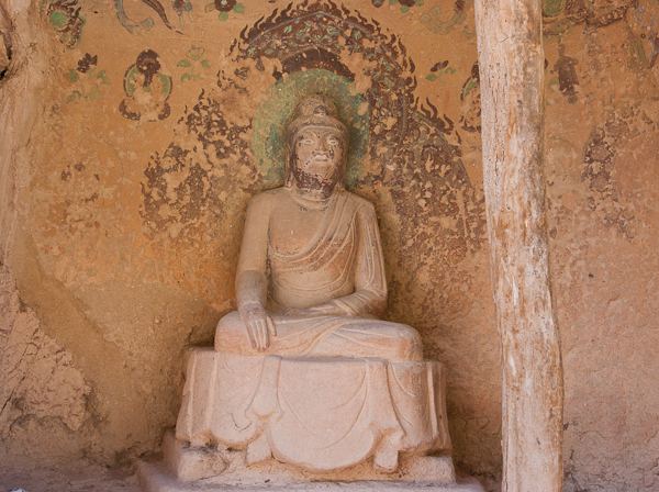
[[[286,187],[328,197],[344,187],[348,130],[338,120],[332,99],[302,99],[286,128]]]

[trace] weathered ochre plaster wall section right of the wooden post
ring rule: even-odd
[[[649,491],[659,487],[659,5],[573,12],[547,43],[566,490]]]

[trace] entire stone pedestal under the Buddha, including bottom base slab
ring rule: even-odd
[[[146,492],[465,490],[436,361],[190,350],[177,428]]]

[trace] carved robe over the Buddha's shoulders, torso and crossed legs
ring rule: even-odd
[[[387,279],[372,203],[336,190],[313,239],[301,251],[287,254],[272,244],[270,223],[279,219],[276,203],[288,193],[279,188],[253,199],[238,261],[238,276],[258,270],[269,279],[267,310],[277,336],[265,354],[422,360],[414,328],[379,320],[387,305]],[[294,199],[293,193],[288,199]],[[288,309],[325,303],[339,314],[287,314]],[[257,354],[248,346],[237,312],[220,322],[215,349]]]

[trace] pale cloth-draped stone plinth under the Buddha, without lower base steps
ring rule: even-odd
[[[442,365],[429,360],[235,356],[197,348],[190,351],[176,438],[192,450],[211,443],[219,450],[245,449],[246,465],[275,458],[316,473],[372,457],[386,474],[396,471],[399,452],[450,449],[444,385]]]

